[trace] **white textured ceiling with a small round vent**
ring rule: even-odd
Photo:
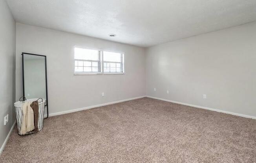
[[[149,47],[256,21],[256,0],[7,0],[16,22]],[[116,34],[109,37],[108,34]]]

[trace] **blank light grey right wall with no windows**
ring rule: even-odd
[[[148,48],[146,94],[256,117],[256,23]]]

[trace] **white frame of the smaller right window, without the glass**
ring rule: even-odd
[[[106,63],[122,63],[122,67],[123,67],[123,72],[104,72],[104,51],[105,52],[113,52],[113,53],[120,53],[122,54],[122,62],[110,62],[110,61],[105,61]],[[121,51],[112,51],[112,50],[104,50],[102,49],[102,72],[103,74],[105,75],[108,75],[108,74],[125,74],[125,64],[124,64],[124,52],[121,52]]]

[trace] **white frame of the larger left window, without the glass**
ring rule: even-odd
[[[97,50],[98,52],[100,51],[100,60],[80,60],[80,59],[75,59],[75,48],[81,48],[81,49],[89,49],[89,50]],[[97,49],[97,48],[91,48],[91,47],[82,47],[82,46],[77,46],[75,45],[73,47],[73,73],[74,75],[98,75],[98,74],[103,74],[103,69],[102,69],[102,56],[103,56],[103,51],[102,49]],[[85,61],[85,62],[100,62],[100,68],[101,72],[75,72],[75,61]],[[84,66],[82,66],[84,67]]]

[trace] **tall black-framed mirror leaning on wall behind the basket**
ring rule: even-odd
[[[44,98],[48,118],[46,56],[22,53],[23,96],[27,99]]]

